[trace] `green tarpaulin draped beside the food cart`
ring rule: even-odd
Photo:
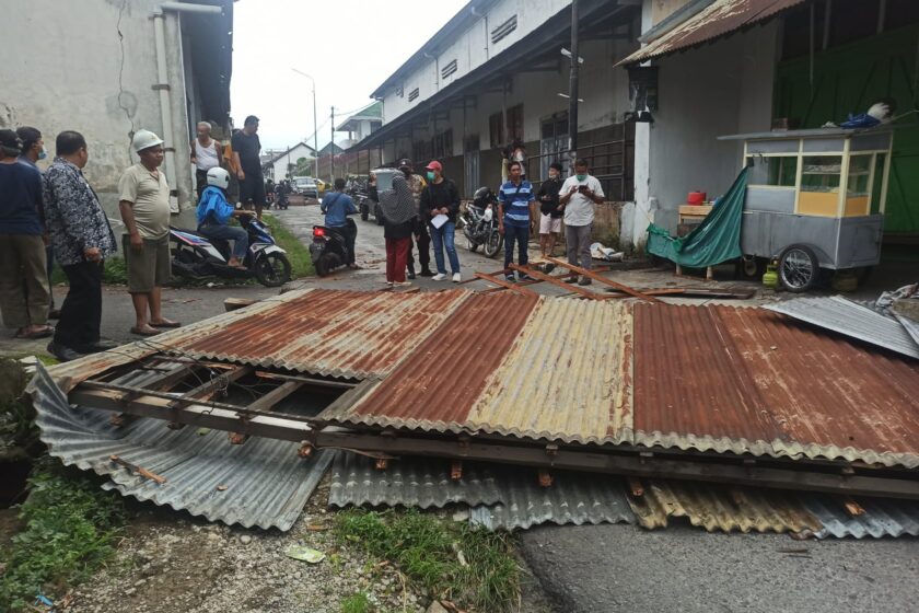
[[[719,198],[699,227],[685,236],[675,239],[660,225],[649,225],[648,253],[687,268],[705,268],[740,257],[746,175],[747,169],[742,170],[731,189]]]

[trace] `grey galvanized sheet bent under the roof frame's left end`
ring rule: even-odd
[[[129,375],[121,382],[142,384],[142,379]],[[232,446],[226,432],[171,430],[159,419],[116,428],[109,412],[71,408],[40,366],[30,393],[40,438],[51,455],[110,478],[104,487],[125,496],[226,524],[290,530],[336,453],[323,451],[304,461],[293,442],[253,438]],[[135,475],[110,462],[112,454],[167,481],[160,485]]]

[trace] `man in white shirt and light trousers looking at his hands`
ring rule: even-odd
[[[591,269],[591,224],[594,207],[603,203],[603,198],[600,181],[588,174],[588,161],[575,161],[574,176],[566,178],[559,190],[559,203],[565,209],[565,242],[569,264]],[[591,279],[581,277],[578,285],[589,286]]]

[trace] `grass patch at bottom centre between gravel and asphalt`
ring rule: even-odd
[[[415,509],[336,516],[335,534],[388,560],[431,598],[474,611],[509,611],[520,594],[520,567],[508,534],[441,521]]]

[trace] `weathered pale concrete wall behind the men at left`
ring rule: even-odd
[[[31,0],[3,12],[0,38],[12,61],[0,62],[0,127],[42,130],[49,160],[58,132],[73,129],[89,143],[86,177],[106,211],[118,221],[117,184],[137,157],[130,135],[151,129],[174,147],[171,185],[178,201],[193,203],[179,18],[165,22],[170,92],[175,135],[160,114],[153,22],[155,0]],[[119,23],[120,19],[120,23]],[[119,37],[120,32],[120,37]],[[124,67],[121,62],[124,61]],[[116,233],[118,229],[116,228]]]

